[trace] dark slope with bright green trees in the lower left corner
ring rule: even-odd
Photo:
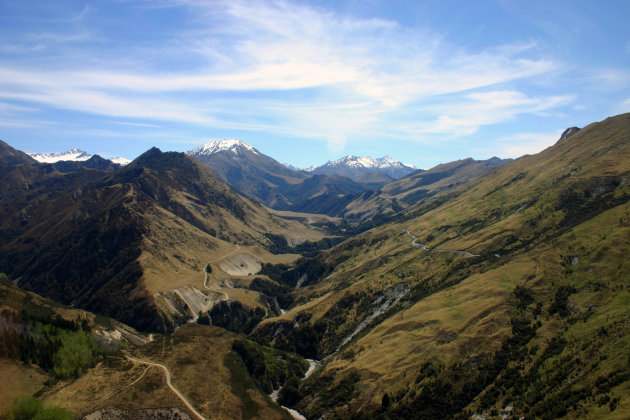
[[[90,312],[22,290],[0,274],[0,413],[16,398],[82,375],[103,352],[141,345],[147,336]]]

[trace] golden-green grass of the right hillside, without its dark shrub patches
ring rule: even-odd
[[[453,373],[463,368],[453,366],[479,357],[496,360],[495,352],[513,335],[515,318],[531,325],[540,321],[535,336],[519,347],[530,355],[510,359],[519,377],[536,374],[521,379],[525,385],[517,392],[502,379],[507,375],[507,368],[502,368],[481,385],[481,393],[474,393],[477,399],[469,399],[471,413],[498,410],[514,401],[515,409],[524,414],[546,409],[568,417],[628,415],[630,384],[623,375],[630,371],[625,350],[630,337],[625,322],[630,272],[625,259],[630,249],[629,119],[621,115],[586,127],[536,156],[467,184],[455,200],[426,213],[420,208],[406,222],[367,232],[324,257],[335,273],[300,291],[306,298],[322,297],[316,305],[295,308],[284,317],[311,313],[311,322],[329,323],[329,335],[347,334],[365,316],[361,305],[349,305],[341,309],[339,320],[331,315],[336,302],[360,293],[372,299],[400,282],[411,286],[407,298],[326,366],[325,372],[336,380],[354,371],[362,377],[362,391],[350,398],[354,402],[338,409],[340,415],[359,407],[364,412],[378,410],[383,391],[394,396],[390,411],[400,414],[405,407],[414,407],[426,397],[427,384],[437,381],[422,376],[426,362],[439,367],[438,379],[455,388],[463,386],[465,381],[454,379]],[[433,250],[412,248],[404,229]],[[535,299],[525,310],[517,308],[517,285],[531,289]],[[562,300],[561,286],[575,289],[565,311],[554,306]],[[566,340],[566,345],[558,354],[545,353],[554,337]],[[616,369],[623,375],[610,379]],[[569,375],[562,377],[563,372]],[[610,389],[600,386],[607,381],[619,383]],[[537,394],[541,388],[545,395]],[[568,401],[563,393],[580,389],[589,393],[575,404],[555,404]],[[521,392],[525,397],[519,396]],[[606,401],[617,397],[613,406]],[[550,410],[550,404],[565,412]],[[301,408],[321,413],[309,398]]]

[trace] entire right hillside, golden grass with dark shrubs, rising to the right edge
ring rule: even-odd
[[[571,134],[278,273],[296,305],[252,336],[325,362],[291,404],[627,418],[630,114]]]

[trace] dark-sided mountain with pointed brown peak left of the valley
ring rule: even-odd
[[[141,329],[196,316],[192,303],[178,309],[156,294],[208,287],[203,268],[236,243],[241,254],[279,262],[265,250],[273,244],[266,235],[323,236],[270,215],[184,154],[152,149],[117,171],[68,173],[17,151],[6,156],[23,159],[2,167],[0,270],[22,287]]]

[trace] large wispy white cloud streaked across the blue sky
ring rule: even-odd
[[[139,71],[124,62],[95,68],[85,63],[96,52],[85,50],[88,59],[56,71],[0,66],[0,98],[149,126],[173,121],[319,138],[331,150],[375,133],[465,136],[574,100],[519,90],[521,81],[559,67],[537,57],[532,41],[470,52],[428,28],[287,1],[159,6],[186,7],[195,18],[171,34],[169,45],[144,48],[154,56],[163,51],[163,61],[170,53],[195,57],[190,68]],[[90,12],[86,6],[72,20]],[[65,41],[73,36],[88,37]],[[64,40],[47,32],[41,37]]]

